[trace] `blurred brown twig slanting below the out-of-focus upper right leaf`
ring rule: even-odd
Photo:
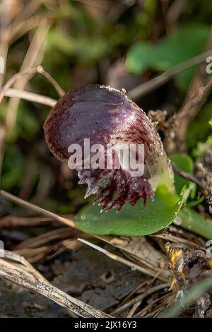
[[[177,75],[177,73],[181,73],[186,69],[196,66],[196,64],[201,64],[201,62],[206,61],[206,57],[211,55],[211,52],[212,49],[209,49],[204,53],[196,55],[196,57],[193,57],[191,59],[188,59],[187,61],[182,62],[181,64],[173,66],[171,69],[168,69],[161,75],[156,76],[151,81],[138,85],[136,86],[136,88],[129,90],[127,92],[127,95],[131,97],[132,100],[138,100],[138,98],[142,97],[143,95],[146,95],[146,93],[149,93],[155,88],[158,88],[160,85],[163,85],[166,82],[170,81],[170,79],[172,79],[175,75]]]

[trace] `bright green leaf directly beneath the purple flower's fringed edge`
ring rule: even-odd
[[[100,213],[99,206],[86,206],[78,213],[76,226],[90,234],[143,236],[157,232],[170,225],[175,219],[183,198],[170,194],[164,187],[159,187],[155,200],[148,199],[146,207],[142,202],[131,206],[126,204],[119,213],[115,210]]]

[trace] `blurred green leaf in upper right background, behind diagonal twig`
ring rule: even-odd
[[[203,52],[209,32],[208,25],[187,24],[172,35],[163,37],[156,46],[146,41],[138,42],[127,54],[126,69],[131,73],[143,73],[148,68],[166,71]],[[187,90],[194,70],[187,69],[176,76],[175,83],[178,88]]]

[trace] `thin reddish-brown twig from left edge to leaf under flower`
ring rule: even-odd
[[[23,199],[16,197],[12,194],[9,194],[8,192],[6,192],[4,190],[1,190],[0,193],[1,193],[1,196],[9,199],[10,201],[12,201],[14,203],[18,203],[22,206],[25,206],[25,208],[30,208],[31,210],[35,211],[36,213],[41,213],[42,215],[45,215],[46,217],[50,217],[54,220],[58,220],[60,223],[64,223],[65,225],[68,225],[69,227],[76,227],[73,220],[63,218],[63,217],[61,217],[61,215],[57,215],[56,213],[45,210],[45,208],[40,208],[40,206],[36,206],[33,203],[24,201]]]

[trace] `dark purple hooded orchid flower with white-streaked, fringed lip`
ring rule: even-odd
[[[160,185],[172,188],[172,167],[155,124],[123,91],[105,85],[75,88],[49,112],[44,130],[49,150],[63,162],[69,160],[71,144],[83,150],[84,138],[90,139],[90,146],[144,146],[144,173],[139,177],[124,167],[80,169],[76,165],[79,183],[88,185],[86,197],[95,194],[94,203],[102,205],[102,211],[119,211],[125,203],[134,205],[140,198],[146,203]]]

